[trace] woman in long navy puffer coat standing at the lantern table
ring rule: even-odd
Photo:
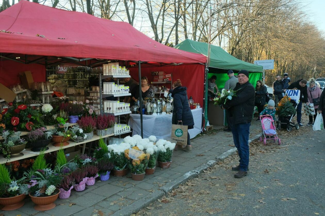
[[[189,108],[186,87],[182,87],[181,81],[178,79],[173,83],[173,89],[169,90],[172,93],[173,100],[173,117],[172,124],[188,125],[188,130],[194,128],[194,119],[192,111]],[[187,145],[183,148],[181,145],[176,145],[175,149],[192,150],[189,133],[187,132]]]

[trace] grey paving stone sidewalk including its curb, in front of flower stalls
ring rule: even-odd
[[[260,133],[260,122],[253,121],[250,138]],[[201,165],[234,148],[232,134],[218,130],[215,135],[202,135],[191,140],[192,151],[175,150],[170,168],[156,168],[153,175],[146,175],[143,181],[134,181],[131,175],[110,176],[108,181],[97,180],[95,185],[86,186],[82,192],[72,189],[68,199],[57,199],[57,206],[48,211],[33,209],[28,198],[25,205],[14,211],[0,211],[4,216],[99,216],[130,215],[162,197],[171,188],[187,180]]]

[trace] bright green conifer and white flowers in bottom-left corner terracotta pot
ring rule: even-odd
[[[6,166],[0,164],[0,205],[3,205],[1,210],[15,210],[25,204],[23,200],[29,193],[28,185],[23,184],[25,178],[10,179]]]

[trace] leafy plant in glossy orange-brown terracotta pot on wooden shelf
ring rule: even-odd
[[[52,135],[52,141],[55,142],[54,146],[66,146],[69,145],[72,132],[69,130],[69,123],[66,123],[68,119],[57,117],[59,124],[55,127],[54,135]]]

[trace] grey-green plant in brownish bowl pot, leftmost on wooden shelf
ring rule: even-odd
[[[26,141],[20,138],[20,131],[3,131],[1,136],[4,142],[0,142],[0,148],[5,158],[20,157],[26,147]]]

